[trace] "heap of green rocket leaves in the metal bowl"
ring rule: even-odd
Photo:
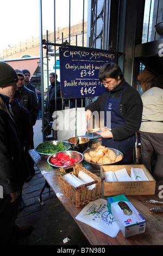
[[[55,154],[59,151],[65,151],[66,147],[63,145],[62,141],[54,145],[51,142],[41,143],[36,148],[37,152],[43,154]]]

